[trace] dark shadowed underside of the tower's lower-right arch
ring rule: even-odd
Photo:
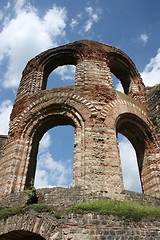
[[[118,116],[116,121],[117,134],[123,134],[132,144],[138,164],[138,171],[142,184],[144,184],[143,172],[145,169],[145,161],[148,150],[153,144],[153,138],[148,125],[138,116],[125,113]],[[129,152],[125,154],[128,156]],[[142,185],[142,188],[144,186]]]

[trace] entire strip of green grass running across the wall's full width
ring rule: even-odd
[[[56,218],[61,218],[62,215],[66,215],[68,213],[115,215],[125,219],[132,219],[134,221],[139,221],[143,217],[160,218],[160,207],[152,206],[146,203],[91,200],[76,204],[67,209],[61,209],[61,211],[55,211],[55,207],[46,204],[30,204],[14,208],[4,208],[0,209],[0,219],[30,210],[40,213],[48,212],[49,214],[54,215]]]

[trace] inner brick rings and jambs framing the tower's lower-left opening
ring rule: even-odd
[[[51,109],[52,108],[52,112]],[[31,124],[31,122],[30,122]],[[29,124],[29,125],[30,125]],[[41,119],[37,118],[32,127],[28,126],[30,133],[27,133],[32,139],[31,141],[31,151],[29,154],[29,165],[27,168],[27,176],[25,188],[29,188],[30,180],[34,178],[35,168],[36,168],[36,157],[38,153],[39,141],[49,129],[55,126],[61,125],[71,125],[74,127],[74,174],[73,174],[73,185],[75,183],[76,173],[76,164],[82,165],[82,156],[83,156],[83,146],[82,146],[82,133],[84,131],[84,123],[82,116],[78,113],[77,110],[71,106],[64,104],[53,104],[50,105],[45,110],[43,109],[43,117]],[[54,146],[53,146],[54,147]],[[81,157],[78,158],[77,152],[81,153]],[[79,160],[78,160],[79,159]]]

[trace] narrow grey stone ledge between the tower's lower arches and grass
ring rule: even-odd
[[[0,207],[23,206],[31,200],[32,194],[28,191],[17,192],[7,195],[0,200]],[[121,194],[115,194],[112,198],[103,192],[86,193],[81,188],[42,188],[37,189],[32,203],[47,204],[56,207],[67,207],[87,200],[111,199],[133,202],[145,202],[151,205],[160,206],[160,199],[144,195],[142,193],[124,190]]]

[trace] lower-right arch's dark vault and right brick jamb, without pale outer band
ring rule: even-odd
[[[151,128],[138,115],[126,112],[117,117],[116,132],[123,134],[132,143],[137,156],[142,189],[145,194],[150,194],[152,187],[158,183],[158,165],[155,164],[156,160],[154,163],[150,161],[156,159],[156,141]]]

